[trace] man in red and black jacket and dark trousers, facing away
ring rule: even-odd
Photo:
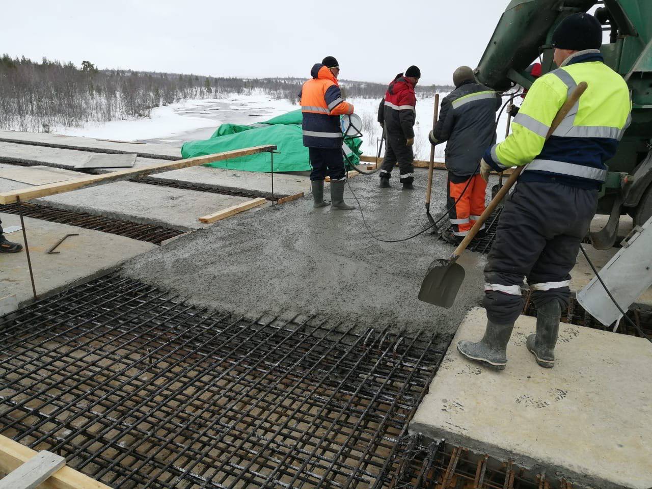
[[[380,168],[380,186],[389,187],[394,165],[398,162],[400,183],[403,188],[414,188],[414,123],[417,97],[414,87],[419,83],[421,70],[409,67],[405,75],[400,73],[389,83],[385,98],[378,107],[378,122],[385,130],[385,157]]]

